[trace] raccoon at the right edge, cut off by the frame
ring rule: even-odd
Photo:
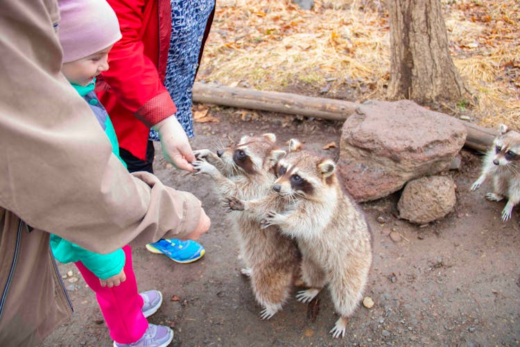
[[[482,168],[482,174],[471,185],[476,190],[484,183],[487,177],[493,180],[493,192],[487,193],[486,198],[491,201],[501,201],[508,198],[508,203],[502,210],[502,220],[508,221],[514,205],[520,201],[520,133],[509,130],[508,126],[500,125],[500,135],[493,141],[493,146],[487,151]]]

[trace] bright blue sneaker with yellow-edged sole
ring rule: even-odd
[[[199,260],[206,250],[197,242],[189,239],[159,239],[153,244],[147,244],[146,249],[155,254],[164,254],[174,262],[187,264]]]

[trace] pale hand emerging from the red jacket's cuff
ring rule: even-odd
[[[177,169],[193,171],[190,162],[195,160],[188,137],[174,115],[159,121],[152,127],[159,132],[162,155]]]

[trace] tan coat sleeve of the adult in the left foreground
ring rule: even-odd
[[[112,154],[92,111],[60,73],[57,6],[49,2],[2,1],[1,207],[98,253],[187,236],[200,202],[151,174],[128,174]]]

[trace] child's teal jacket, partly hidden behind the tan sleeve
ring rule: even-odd
[[[119,156],[119,143],[117,142],[116,130],[110,121],[110,117],[98,101],[96,94],[94,93],[94,83],[87,86],[72,85],[76,91],[83,96],[85,101],[89,103],[90,108],[96,115],[96,118],[100,122],[101,128],[105,130],[110,143],[112,144],[112,152],[123,162]],[[125,266],[125,253],[119,248],[117,251],[108,254],[98,254],[91,251],[87,251],[85,248],[73,244],[72,242],[62,239],[59,236],[51,234],[51,249],[54,257],[62,262],[82,262],[83,265],[96,277],[106,280],[109,277],[115,276],[121,272],[123,266]]]

